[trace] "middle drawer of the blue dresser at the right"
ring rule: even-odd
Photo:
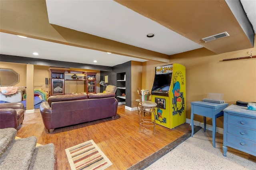
[[[239,126],[228,125],[228,133],[234,134],[240,138],[246,138],[256,142],[256,130],[243,128]]]

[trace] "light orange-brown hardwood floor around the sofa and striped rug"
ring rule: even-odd
[[[139,132],[138,111],[128,111],[124,107],[118,106],[115,119],[57,128],[53,133],[46,132],[40,110],[35,109],[34,113],[25,114],[16,136],[36,136],[39,144],[53,143],[55,170],[69,170],[65,149],[88,140],[94,140],[113,163],[108,170],[126,170],[191,131],[190,125],[184,123],[173,129],[156,125],[155,135],[152,127]]]

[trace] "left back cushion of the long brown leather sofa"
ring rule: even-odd
[[[72,101],[72,100],[81,100],[81,99],[88,99],[88,95],[86,93],[78,93],[78,94],[72,94],[72,95],[55,95],[55,96],[50,96],[47,101],[51,106],[52,102],[56,102],[56,101]]]

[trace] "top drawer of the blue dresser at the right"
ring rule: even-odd
[[[247,127],[256,129],[256,119],[250,119],[246,117],[234,116],[228,114],[228,124],[240,126],[240,127]]]

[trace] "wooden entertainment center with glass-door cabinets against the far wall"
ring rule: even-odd
[[[49,69],[50,95],[96,93],[96,74],[88,71]]]

